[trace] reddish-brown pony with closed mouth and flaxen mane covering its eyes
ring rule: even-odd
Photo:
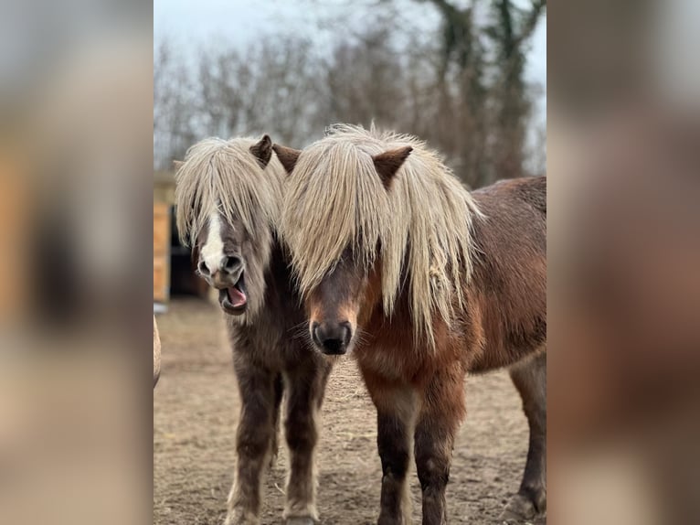
[[[447,522],[445,487],[468,372],[511,367],[530,425],[503,520],[546,509],[546,178],[467,192],[416,138],[338,125],[296,151],[281,233],[314,346],[353,351],[377,407],[378,522],[410,521],[413,453],[423,524]]]

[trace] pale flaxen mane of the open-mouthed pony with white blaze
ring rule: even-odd
[[[275,229],[286,174],[274,156],[263,170],[250,152],[255,143],[207,138],[189,148],[175,174],[175,220],[183,243],[194,244],[215,207],[230,224],[238,218],[252,239]]]

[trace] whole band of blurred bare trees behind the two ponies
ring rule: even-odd
[[[532,132],[525,60],[545,1],[528,9],[508,0],[419,2],[440,14],[437,38],[410,35],[398,4],[387,1],[373,4],[386,16],[339,31],[330,50],[272,37],[200,53],[188,67],[162,44],[154,57],[156,167],[207,135],[268,133],[302,147],[328,124],[375,122],[427,140],[471,187],[525,166],[539,171],[545,130]]]

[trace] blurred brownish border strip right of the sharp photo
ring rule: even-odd
[[[554,523],[700,520],[700,3],[553,2]]]

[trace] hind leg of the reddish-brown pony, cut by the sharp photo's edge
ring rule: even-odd
[[[510,373],[523,398],[530,445],[520,489],[505,507],[501,520],[519,523],[546,510],[546,354],[516,365]]]

